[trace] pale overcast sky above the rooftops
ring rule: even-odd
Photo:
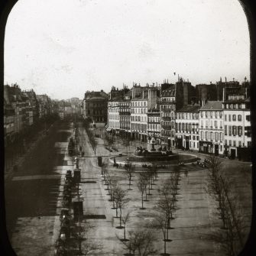
[[[193,86],[241,82],[249,47],[238,0],[19,0],[6,25],[5,84],[83,99],[177,74]]]

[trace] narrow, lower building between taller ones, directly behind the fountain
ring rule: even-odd
[[[159,105],[156,108],[148,109],[147,112],[147,136],[148,139],[154,138],[156,144],[160,144],[161,126],[160,126],[160,109]]]

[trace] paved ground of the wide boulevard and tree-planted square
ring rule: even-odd
[[[60,125],[41,141],[30,157],[24,160],[22,168],[15,173],[5,186],[7,227],[11,245],[18,255],[53,255],[54,245],[60,230],[61,190],[66,170],[73,170],[73,157],[67,154],[67,141],[74,136],[73,123]],[[124,212],[131,212],[127,224],[127,232],[136,228],[144,228],[152,221],[152,212],[159,199],[157,190],[164,180],[170,176],[169,170],[159,170],[158,179],[151,190],[152,195],[144,202],[146,209],[140,209],[141,196],[136,186],[138,168],[132,178],[132,190],[128,190],[128,179],[124,168],[115,168],[109,163],[109,153],[105,149],[102,138],[97,138],[96,154],[89,144],[89,138],[82,124],[78,124],[77,148],[82,147],[84,157],[79,157],[81,183],[79,194],[83,199],[83,223],[87,227],[84,236],[86,241],[98,245],[92,255],[123,255],[127,250],[118,240],[123,230],[116,228],[119,219],[115,218],[115,209],[109,201],[109,191],[102,180],[101,168],[98,167],[97,156],[103,156],[103,162],[109,164],[108,173],[127,191],[131,200]],[[126,148],[123,147],[123,153]],[[134,149],[131,149],[134,151]],[[248,179],[230,166],[232,178]],[[235,163],[236,164],[236,163]],[[242,165],[243,163],[241,163]],[[187,171],[187,173],[186,173]],[[201,167],[180,167],[179,192],[177,209],[171,221],[170,238],[167,252],[172,255],[222,255],[219,243],[213,235],[219,232],[219,219],[215,201],[206,193],[207,170]],[[237,190],[241,196],[242,209],[245,211],[245,222],[250,227],[251,190],[248,181],[238,182]],[[244,196],[244,197],[243,197]],[[157,240],[154,246],[157,254],[163,251],[162,234],[155,230]],[[245,236],[246,240],[246,236]],[[82,249],[85,244],[82,242]]]

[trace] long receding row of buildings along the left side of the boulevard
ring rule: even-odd
[[[4,86],[4,136],[5,146],[26,134],[38,122],[51,115],[60,119],[81,113],[81,100],[57,101],[46,94],[37,95],[33,89],[21,90],[18,84]]]

